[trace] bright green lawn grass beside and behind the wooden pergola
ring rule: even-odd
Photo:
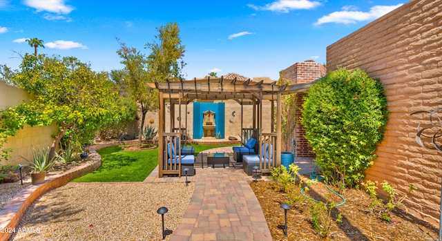
[[[201,151],[227,145],[189,145],[195,147],[195,156]],[[158,149],[124,151],[111,146],[97,151],[102,156],[102,166],[71,182],[142,182],[158,165]]]

